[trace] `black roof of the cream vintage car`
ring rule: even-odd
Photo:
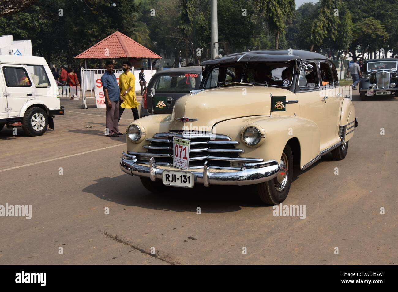
[[[328,57],[316,52],[303,50],[256,50],[240,52],[222,56],[217,59],[203,61],[201,65],[220,64],[228,62],[289,62],[293,60],[321,59],[330,60]]]

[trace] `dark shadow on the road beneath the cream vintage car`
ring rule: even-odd
[[[261,203],[252,186],[197,185],[192,189],[170,188],[164,193],[152,193],[142,186],[138,177],[128,174],[101,178],[82,191],[120,205],[163,211],[196,213],[200,207],[203,213],[226,213],[242,207],[272,207]]]

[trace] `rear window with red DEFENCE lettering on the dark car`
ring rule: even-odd
[[[168,73],[155,75],[153,88],[156,93],[189,93],[199,84],[199,73]]]

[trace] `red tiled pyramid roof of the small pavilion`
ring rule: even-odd
[[[123,35],[119,31],[115,31],[102,41],[94,44],[84,52],[78,54],[75,59],[113,59],[113,58],[148,58],[150,68],[152,69],[152,59],[162,58],[142,44],[137,43],[133,39]]]

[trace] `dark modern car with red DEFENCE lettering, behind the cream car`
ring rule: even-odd
[[[150,114],[171,114],[174,103],[199,88],[202,67],[170,68],[156,72],[142,94],[140,118]]]

